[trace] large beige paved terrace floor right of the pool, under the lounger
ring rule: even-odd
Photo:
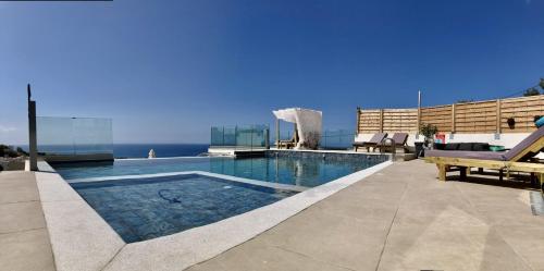
[[[544,270],[528,190],[435,176],[396,163],[189,270]]]

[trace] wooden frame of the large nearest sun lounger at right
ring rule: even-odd
[[[498,170],[500,172],[506,171],[507,176],[511,171],[535,174],[540,180],[541,189],[544,189],[544,164],[526,162],[526,160],[529,160],[527,157],[530,153],[539,153],[543,148],[544,137],[541,137],[507,161],[457,157],[425,157],[424,159],[426,162],[436,164],[438,168],[438,180],[441,181],[446,181],[446,172],[452,170],[453,167],[458,168],[461,178],[465,178],[467,173],[470,173],[471,168],[479,168]]]

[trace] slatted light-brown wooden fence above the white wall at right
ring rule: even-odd
[[[528,133],[534,116],[544,115],[544,95],[412,109],[357,109],[359,134],[417,133],[433,124],[442,133]],[[508,124],[514,119],[515,125]]]

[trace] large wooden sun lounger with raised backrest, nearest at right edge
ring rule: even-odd
[[[544,164],[530,162],[531,158],[544,149],[544,126],[529,135],[512,149],[503,152],[494,151],[459,151],[428,150],[425,160],[438,167],[438,178],[446,180],[446,172],[457,167],[461,178],[466,177],[470,168],[483,168],[499,171],[519,171],[536,174],[544,182]]]

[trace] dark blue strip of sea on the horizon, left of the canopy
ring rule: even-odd
[[[28,145],[12,146],[21,147],[28,151]],[[113,144],[113,156],[115,158],[147,158],[149,150],[153,149],[158,158],[161,157],[195,157],[208,151],[208,144]],[[97,146],[77,146],[78,151],[97,149]],[[102,147],[111,150],[111,147]],[[99,148],[100,149],[100,148]],[[73,153],[74,147],[70,145],[38,146],[38,151]]]

